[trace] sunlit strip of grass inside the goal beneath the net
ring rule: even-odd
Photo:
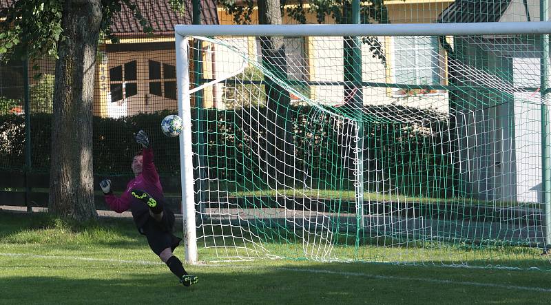
[[[203,260],[258,259],[272,255],[289,260],[308,257],[311,260],[551,271],[551,255],[541,255],[542,250],[538,248],[506,242],[404,241],[403,238],[381,236],[360,238],[356,244],[354,234],[335,235],[329,240],[324,235],[305,231],[252,226],[240,230],[230,225],[206,225],[197,236]]]

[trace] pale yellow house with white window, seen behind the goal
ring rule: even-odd
[[[390,23],[435,23],[439,14],[453,0],[389,0],[384,1]],[[288,7],[292,7],[289,4]],[[315,12],[304,5],[306,23],[318,23]],[[284,11],[282,22],[295,24]],[[258,23],[258,8],[251,14],[251,24]],[[218,7],[220,24],[233,24],[233,16],[224,8]],[[334,23],[326,17],[324,23]],[[240,52],[248,54],[249,59],[261,56],[258,38],[224,38]],[[373,56],[371,45],[362,45],[362,79],[377,84],[407,83],[416,85],[446,85],[446,54],[441,50],[436,37],[377,37],[382,45],[386,62]],[[317,83],[337,83],[344,81],[344,48],[342,38],[333,37],[284,37],[287,61],[287,76],[293,81],[311,81]],[[224,59],[229,52],[214,51],[216,45],[205,43],[202,57],[205,78],[216,78],[229,74],[227,70],[238,69],[239,59]],[[208,55],[207,55],[208,53]],[[236,56],[236,55],[233,55]],[[236,56],[238,57],[238,56]],[[216,61],[224,62],[223,67]],[[228,67],[230,65],[231,67]],[[204,90],[205,107],[224,107],[224,88],[214,85]],[[315,85],[309,88],[309,98],[319,103],[340,105],[345,100],[344,90],[335,85]],[[401,87],[364,87],[365,104],[380,105],[399,103],[410,107],[434,107],[441,112],[448,110],[448,94],[444,90],[407,90]],[[294,96],[291,95],[291,99]],[[298,101],[295,99],[295,101]]]

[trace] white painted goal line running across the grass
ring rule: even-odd
[[[35,258],[56,258],[64,260],[85,260],[90,262],[116,262],[123,264],[143,264],[143,265],[164,265],[163,262],[151,262],[146,260],[115,260],[111,258],[91,258],[91,257],[78,257],[78,256],[63,256],[63,255],[34,255],[34,254],[25,254],[25,253],[0,253],[0,256],[24,256],[24,257],[35,257]],[[256,266],[231,266],[225,264],[204,264],[199,265],[198,267],[225,267],[225,268],[236,268],[236,269],[253,269],[257,268]],[[426,277],[404,277],[404,276],[393,276],[393,275],[375,275],[362,272],[346,272],[346,271],[331,271],[324,269],[301,269],[301,268],[289,268],[289,267],[274,267],[271,269],[276,270],[286,270],[293,272],[307,272],[307,273],[324,273],[324,274],[333,274],[333,275],[346,275],[346,276],[355,276],[355,277],[368,277],[378,280],[399,280],[399,281],[419,281],[435,284],[449,284],[449,285],[465,285],[465,286],[478,286],[478,287],[489,287],[489,288],[504,288],[504,289],[514,289],[514,290],[523,290],[523,291],[537,291],[543,293],[551,293],[551,288],[541,288],[541,287],[529,287],[529,286],[515,286],[515,285],[505,285],[505,284],[492,284],[492,283],[480,283],[480,282],[464,282],[464,281],[453,281],[453,280],[435,280]]]

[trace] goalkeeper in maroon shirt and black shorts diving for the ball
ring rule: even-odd
[[[163,187],[153,163],[149,138],[143,130],[136,135],[136,142],[142,145],[143,151],[136,154],[132,160],[135,178],[128,182],[120,198],[113,195],[110,179],[101,181],[100,187],[105,194],[105,202],[117,213],[130,209],[138,231],[145,235],[149,247],[180,279],[180,283],[184,286],[196,284],[198,277],[188,275],[182,262],[173,254],[182,239],[172,233],[174,213],[165,207],[163,202]]]

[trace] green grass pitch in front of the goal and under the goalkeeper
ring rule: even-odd
[[[183,249],[176,250],[183,258]],[[550,271],[290,260],[186,266],[178,285],[129,219],[0,211],[0,304],[549,304]]]

